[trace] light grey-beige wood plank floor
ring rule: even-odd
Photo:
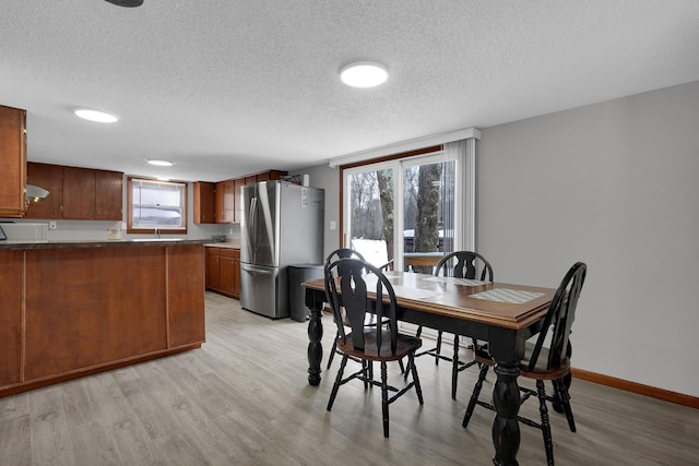
[[[334,324],[323,321],[327,357]],[[379,390],[351,382],[325,411],[339,365],[309,386],[307,344],[306,324],[208,292],[202,348],[0,398],[0,464],[491,464],[491,414],[461,427],[475,370],[452,401],[449,367],[419,358],[425,405],[414,392],[392,404],[383,439]],[[578,380],[571,396],[577,433],[552,411],[558,465],[699,464],[698,410]],[[536,416],[536,402],[522,413]],[[541,432],[521,430],[520,465],[544,464]]]

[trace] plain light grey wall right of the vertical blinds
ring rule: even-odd
[[[699,82],[482,129],[476,157],[498,282],[588,263],[573,366],[699,396]]]

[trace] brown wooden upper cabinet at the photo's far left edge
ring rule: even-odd
[[[26,111],[0,106],[0,217],[21,217],[26,189]]]

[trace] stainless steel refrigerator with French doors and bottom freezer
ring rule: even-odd
[[[324,191],[285,181],[242,187],[240,304],[289,315],[287,266],[323,262]]]

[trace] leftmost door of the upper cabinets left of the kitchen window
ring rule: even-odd
[[[29,204],[24,216],[26,218],[62,218],[63,204],[63,167],[50,164],[26,164],[27,183],[48,190],[49,194],[42,202]]]

